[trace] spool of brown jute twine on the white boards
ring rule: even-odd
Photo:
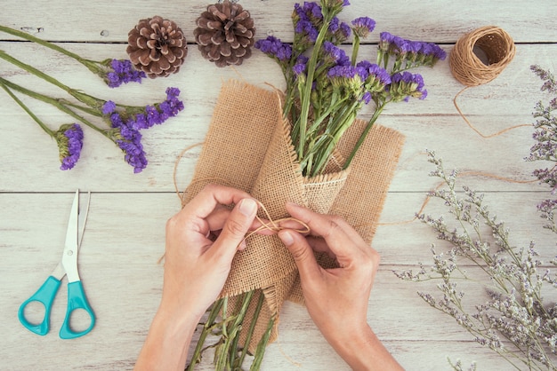
[[[484,63],[474,47],[486,54]],[[513,60],[513,38],[501,28],[487,26],[462,36],[450,52],[449,64],[456,80],[466,86],[477,86],[495,79]]]

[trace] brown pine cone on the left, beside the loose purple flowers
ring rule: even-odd
[[[180,70],[188,54],[188,44],[182,29],[174,21],[155,16],[140,20],[128,33],[126,51],[133,67],[155,78]]]

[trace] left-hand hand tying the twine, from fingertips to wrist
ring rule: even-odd
[[[234,209],[225,205],[235,203]],[[166,223],[161,307],[201,318],[222,290],[232,258],[257,222],[256,201],[226,186],[203,188]],[[211,234],[218,234],[216,240]]]

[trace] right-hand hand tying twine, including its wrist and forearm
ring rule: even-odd
[[[306,307],[327,342],[352,369],[402,369],[367,324],[367,303],[379,265],[375,249],[341,217],[292,203],[287,211],[311,228],[308,236],[283,229],[278,237],[295,259]],[[335,258],[339,267],[322,268],[314,251]]]

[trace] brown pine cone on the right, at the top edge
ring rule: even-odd
[[[251,57],[254,44],[254,20],[240,4],[225,0],[207,6],[197,20],[193,35],[201,54],[218,67],[241,65]]]

